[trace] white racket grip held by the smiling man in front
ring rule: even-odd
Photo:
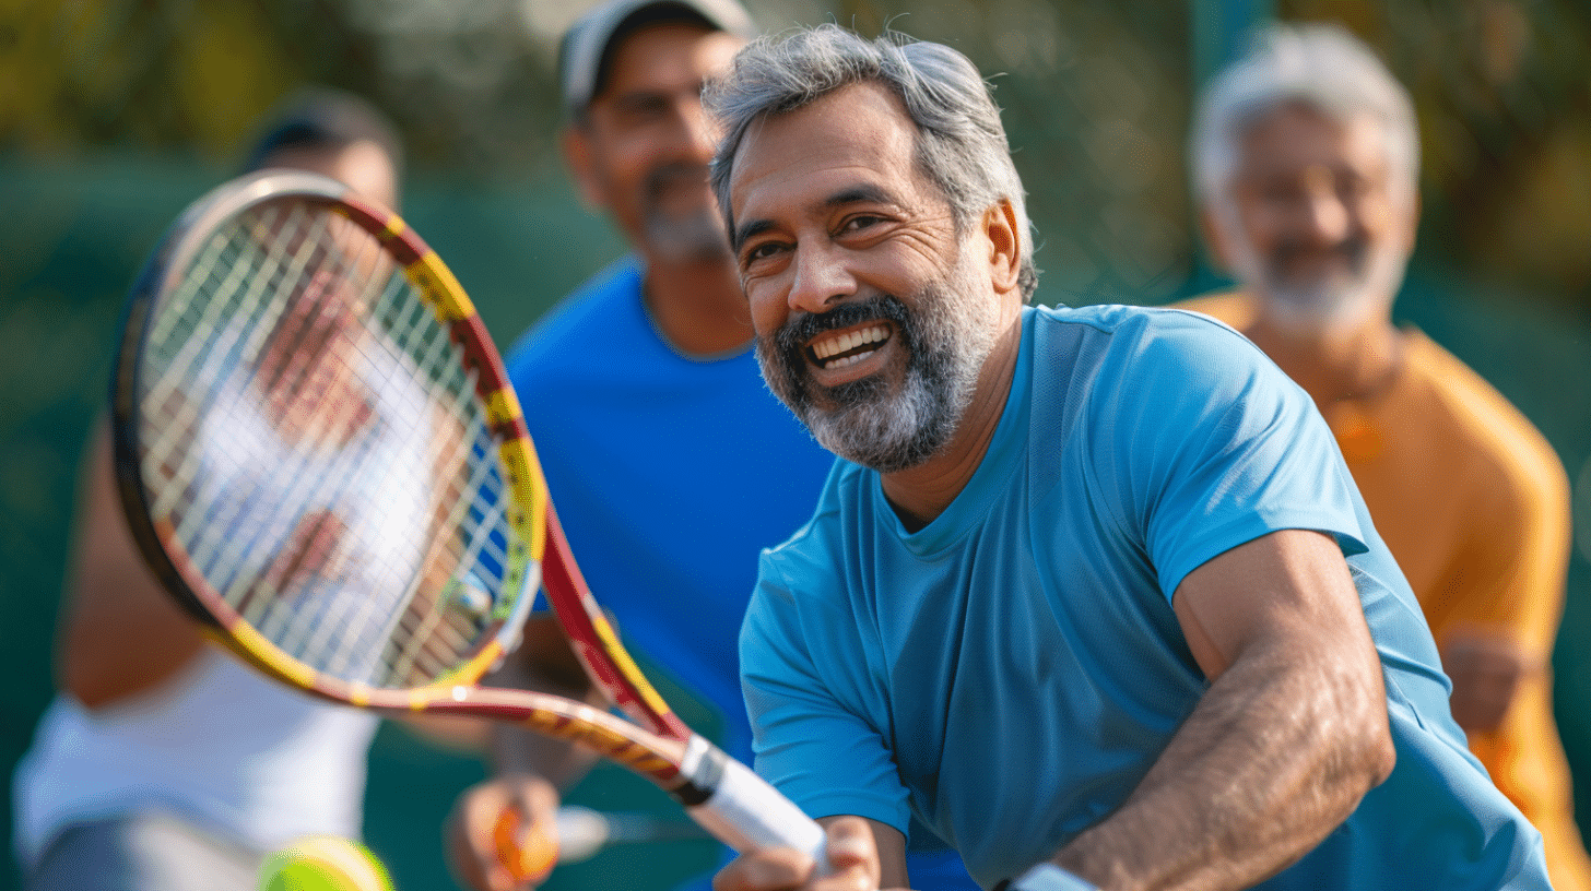
[[[737,851],[796,848],[827,872],[824,831],[767,780],[724,754],[702,737],[686,745],[683,773],[690,786],[706,792],[687,802],[686,811],[708,832]]]

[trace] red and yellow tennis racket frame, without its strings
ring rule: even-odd
[[[261,202],[285,199],[323,204],[380,240],[438,320],[447,326],[452,340],[463,352],[466,366],[476,372],[476,393],[487,409],[496,439],[504,484],[511,495],[508,522],[519,533],[519,541],[511,543],[508,551],[504,578],[509,581],[504,586],[523,586],[522,590],[527,593],[520,597],[514,611],[498,622],[493,633],[484,635],[482,644],[468,660],[445,678],[422,687],[383,689],[347,683],[282,652],[208,586],[202,573],[188,562],[172,530],[150,519],[148,496],[138,468],[135,399],[138,347],[151,310],[175,288],[197,247],[223,220]],[[574,738],[663,788],[681,783],[676,765],[690,730],[619,648],[611,624],[585,589],[552,514],[547,484],[525,428],[519,399],[480,313],[436,251],[396,213],[358,197],[334,180],[296,170],[253,173],[196,202],[173,224],[129,299],[116,360],[113,415],[118,485],[129,525],[145,558],[165,587],[202,622],[207,635],[248,663],[307,692],[363,708],[477,714],[523,722],[544,733]],[[549,557],[552,560],[547,560]],[[630,738],[638,735],[635,726],[562,697],[474,686],[517,646],[519,628],[530,613],[543,573],[554,608],[560,611],[560,622],[573,628],[571,641],[585,651],[582,663],[593,681],[600,683],[633,719],[652,730],[654,738],[638,745]],[[603,660],[598,652],[616,657]],[[598,667],[613,668],[603,671]],[[660,757],[657,753],[668,753],[668,757]]]

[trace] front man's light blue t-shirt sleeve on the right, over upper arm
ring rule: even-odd
[[[1090,465],[1168,600],[1211,557],[1271,531],[1324,531],[1344,555],[1365,551],[1330,428],[1257,347],[1185,312],[1126,334],[1090,393]]]

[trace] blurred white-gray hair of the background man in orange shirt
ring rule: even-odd
[[[1188,161],[1200,199],[1222,199],[1238,169],[1243,132],[1290,102],[1335,121],[1376,118],[1394,181],[1408,196],[1414,194],[1419,180],[1414,105],[1368,46],[1335,24],[1278,24],[1254,38],[1249,53],[1211,80],[1195,111]]]

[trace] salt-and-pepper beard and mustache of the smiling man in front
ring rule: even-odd
[[[912,301],[878,294],[803,313],[772,336],[757,337],[757,364],[768,390],[835,455],[878,473],[915,468],[945,447],[977,388],[994,347],[998,313],[988,294],[967,286],[956,264]],[[872,377],[821,387],[807,372],[807,347],[816,334],[869,320],[894,321],[907,355],[905,379],[891,393],[888,369]]]

